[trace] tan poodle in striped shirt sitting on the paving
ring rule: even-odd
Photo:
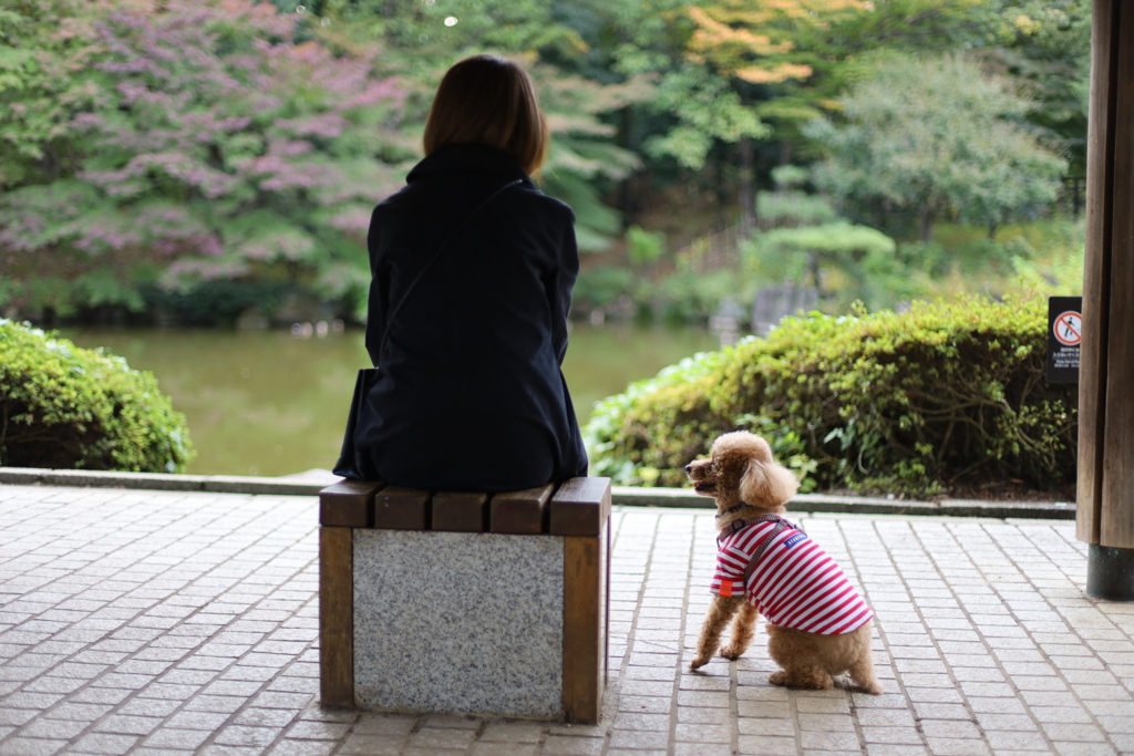
[[[873,612],[838,564],[782,515],[799,484],[776,464],[760,436],[737,431],[712,444],[709,459],[685,467],[694,490],[717,500],[716,594],[689,669],[704,666],[736,615],[722,656],[737,659],[752,643],[758,611],[768,627],[768,653],[782,669],[768,681],[827,689],[849,672],[880,694],[870,655]]]

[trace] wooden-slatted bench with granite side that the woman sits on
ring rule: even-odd
[[[594,723],[607,679],[610,478],[320,493],[324,706]]]

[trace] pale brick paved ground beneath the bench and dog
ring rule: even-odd
[[[770,686],[759,636],[686,672],[712,516],[618,509],[616,674],[567,727],[321,711],[313,499],[0,486],[0,755],[1134,754],[1134,604],[1084,597],[1069,524],[801,520],[885,695]]]

